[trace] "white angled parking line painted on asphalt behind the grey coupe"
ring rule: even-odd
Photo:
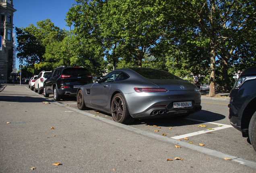
[[[213,131],[217,131],[217,130],[232,127],[231,125],[225,125],[225,124],[220,124],[220,123],[213,123],[213,122],[207,122],[207,121],[201,121],[201,120],[189,119],[189,118],[185,118],[185,119],[192,120],[192,121],[199,121],[199,122],[203,122],[203,123],[214,124],[214,125],[221,125],[221,127],[216,127],[216,128],[214,128],[214,130],[206,129],[206,130],[203,130],[203,131],[197,131],[197,132],[193,132],[193,133],[188,133],[188,134],[184,134],[184,135],[171,137],[172,139],[182,139],[182,138],[185,138],[185,137],[192,137],[192,136],[195,136],[195,135],[200,135],[200,134],[204,134],[204,133],[213,132]]]

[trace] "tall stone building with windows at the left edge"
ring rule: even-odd
[[[0,0],[0,35],[2,50],[0,50],[0,83],[7,83],[12,73],[13,63],[13,0]]]

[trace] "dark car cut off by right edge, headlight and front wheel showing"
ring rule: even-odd
[[[243,137],[249,137],[256,151],[256,66],[242,72],[229,97],[229,121]]]

